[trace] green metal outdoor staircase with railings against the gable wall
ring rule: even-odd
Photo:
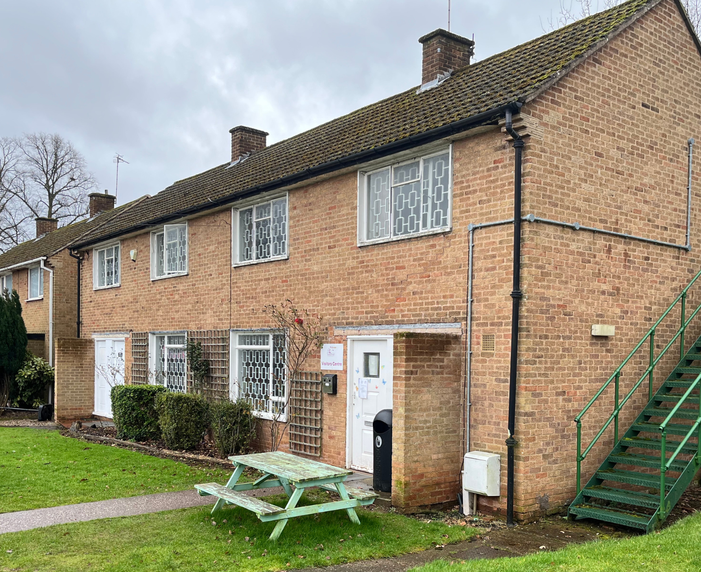
[[[592,518],[653,531],[665,521],[674,505],[701,468],[701,337],[685,351],[684,334],[701,305],[686,319],[688,289],[698,273],[662,314],[648,334],[613,372],[587,406],[576,416],[577,496],[569,507],[571,519]],[[672,310],[681,304],[681,325],[660,355],[655,357],[655,331]],[[681,360],[653,394],[655,366],[679,340]],[[650,342],[649,365],[622,400],[619,385],[623,367]],[[669,356],[668,356],[669,357]],[[629,399],[647,380],[648,404],[630,428],[618,439],[618,417]],[[583,417],[613,383],[614,408],[589,446],[582,451]],[[581,488],[581,463],[613,423],[615,446],[606,460]],[[667,440],[667,435],[674,436]],[[673,473],[674,476],[668,475]]]

